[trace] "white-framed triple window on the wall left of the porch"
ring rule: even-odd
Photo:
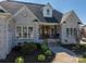
[[[33,36],[32,31],[33,31],[33,27],[28,27],[28,26],[16,27],[17,38],[30,38]]]

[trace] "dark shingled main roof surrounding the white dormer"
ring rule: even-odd
[[[15,14],[22,7],[26,5],[39,18],[40,22],[60,23],[63,15],[61,12],[53,10],[52,17],[45,18],[42,15],[42,8],[45,4],[20,1],[2,1],[0,2],[0,5],[2,5],[11,14]]]

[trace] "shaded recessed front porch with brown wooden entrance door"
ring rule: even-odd
[[[39,25],[39,39],[60,39],[60,26]]]

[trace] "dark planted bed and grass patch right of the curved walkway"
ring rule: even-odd
[[[78,63],[86,63],[86,44],[61,44],[61,47],[73,51],[78,57]]]

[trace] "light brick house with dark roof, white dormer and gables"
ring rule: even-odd
[[[19,1],[0,2],[0,59],[24,41],[42,42],[48,39],[64,44],[77,43],[79,18],[74,11],[65,14],[50,3],[37,4]]]

